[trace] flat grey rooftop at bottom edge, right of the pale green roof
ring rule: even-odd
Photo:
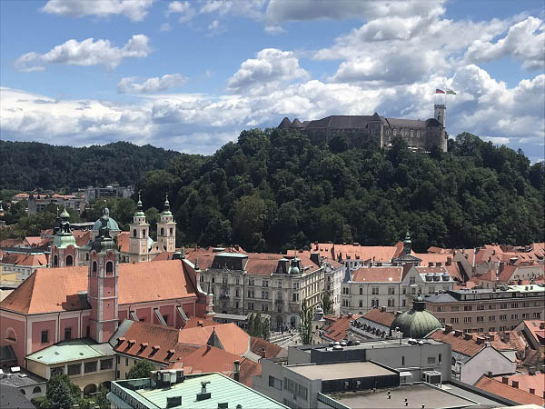
[[[388,391],[391,399],[388,399]],[[418,408],[422,404],[431,408],[454,408],[466,407],[476,404],[470,399],[464,398],[450,391],[431,386],[430,384],[403,384],[396,388],[380,389],[377,392],[372,390],[361,392],[348,392],[341,394],[327,394],[330,398],[347,407],[374,407],[374,408]],[[404,400],[408,405],[405,406]]]

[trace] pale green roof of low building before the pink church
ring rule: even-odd
[[[28,355],[26,359],[51,365],[113,355],[114,350],[110,344],[96,344],[91,340],[74,339],[48,346]]]

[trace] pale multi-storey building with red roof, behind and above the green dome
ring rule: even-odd
[[[454,288],[455,281],[443,266],[413,264],[364,266],[342,283],[341,312],[365,314],[373,308],[388,312],[406,311],[418,294],[435,294]]]

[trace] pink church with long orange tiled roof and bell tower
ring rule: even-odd
[[[101,223],[87,266],[38,269],[0,303],[0,346],[10,345],[19,365],[67,339],[105,343],[125,318],[178,328],[188,316],[212,318],[212,295],[201,290],[191,262],[119,264],[106,214]],[[70,241],[69,233],[57,234]],[[70,262],[74,254],[62,255]]]

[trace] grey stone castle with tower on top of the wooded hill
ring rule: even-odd
[[[325,118],[303,121],[295,118],[292,122],[285,117],[279,129],[299,129],[309,136],[312,144],[327,144],[336,135],[345,135],[351,146],[367,145],[373,142],[381,148],[387,147],[391,139],[401,136],[415,151],[429,152],[437,145],[447,151],[448,135],[445,130],[445,111],[443,104],[434,105],[433,118],[395,119],[378,115],[331,115]]]

